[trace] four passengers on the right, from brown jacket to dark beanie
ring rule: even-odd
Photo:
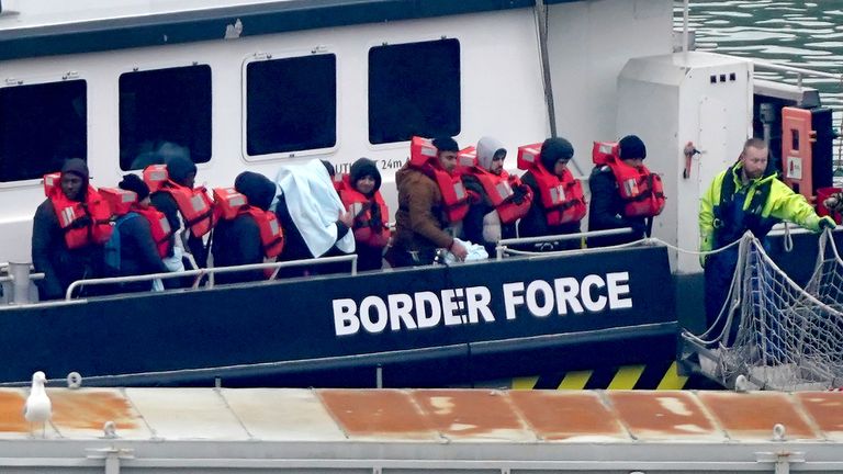
[[[589,246],[631,242],[649,235],[648,222],[664,206],[661,180],[643,166],[647,148],[638,136],[595,145],[591,204],[569,169],[574,147],[567,139],[518,148],[517,166],[526,171],[520,178],[504,169],[507,154],[492,137],[465,149],[450,137],[414,138],[411,159],[395,176],[398,210],[386,255],[391,264],[430,264],[439,249],[464,260],[467,241],[491,255],[502,239],[578,234],[587,211],[589,230],[629,229],[589,239]],[[581,247],[582,238],[562,237],[528,249]]]

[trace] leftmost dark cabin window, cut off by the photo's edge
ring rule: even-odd
[[[87,84],[66,80],[0,89],[0,181],[41,178],[88,157]]]

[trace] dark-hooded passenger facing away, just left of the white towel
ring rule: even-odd
[[[211,247],[214,267],[263,263],[281,253],[283,230],[276,214],[269,211],[274,198],[276,183],[251,171],[239,173],[233,190],[214,190],[214,207],[220,215]],[[239,283],[266,278],[263,270],[248,270],[217,273],[215,281]]]

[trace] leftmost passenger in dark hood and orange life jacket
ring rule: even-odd
[[[80,158],[67,160],[59,176],[45,177],[44,189],[47,199],[33,218],[32,262],[44,272],[36,283],[41,300],[55,300],[74,281],[102,275],[111,211],[90,185],[88,165]]]

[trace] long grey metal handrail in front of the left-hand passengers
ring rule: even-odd
[[[339,256],[339,257],[322,257],[322,258],[314,258],[314,259],[304,259],[304,260],[290,260],[290,261],[280,261],[280,262],[268,262],[268,263],[249,263],[249,264],[241,264],[241,266],[232,266],[232,267],[212,267],[206,269],[198,269],[198,270],[183,270],[183,271],[177,271],[177,272],[166,272],[166,273],[149,273],[149,274],[142,274],[142,275],[130,275],[130,276],[109,276],[109,278],[101,278],[101,279],[87,279],[87,280],[77,280],[72,283],[70,283],[70,286],[67,287],[67,292],[65,292],[65,301],[70,301],[74,298],[74,291],[80,286],[85,285],[103,285],[103,284],[110,284],[110,283],[130,283],[130,282],[142,282],[142,281],[153,281],[153,280],[168,280],[168,279],[175,279],[175,278],[182,278],[182,276],[195,276],[193,280],[193,289],[199,286],[199,282],[202,280],[202,276],[210,275],[210,274],[216,274],[216,273],[236,273],[241,271],[249,271],[249,270],[265,270],[265,269],[276,269],[276,271],[272,273],[272,275],[268,279],[274,280],[278,275],[278,272],[282,268],[290,268],[290,267],[301,267],[305,264],[326,264],[326,263],[336,263],[336,262],[344,262],[344,261],[350,261],[351,262],[351,275],[357,275],[357,255],[351,253],[347,256]],[[213,284],[210,284],[209,287],[213,287]]]

